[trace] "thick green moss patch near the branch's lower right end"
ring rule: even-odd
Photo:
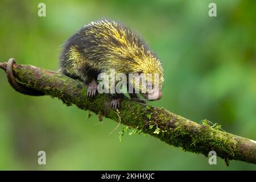
[[[184,151],[208,156],[208,152],[214,150],[222,157],[233,158],[236,141],[228,134],[214,130],[210,126],[187,123],[182,117],[177,117],[177,120],[180,122],[179,125],[175,129],[167,128],[166,132],[159,136],[161,140],[176,147],[182,147]]]

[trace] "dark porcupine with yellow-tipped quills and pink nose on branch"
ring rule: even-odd
[[[87,88],[89,97],[97,92],[97,76],[100,73],[109,73],[114,69],[115,73],[144,73],[151,75],[147,88],[142,94],[156,96],[158,100],[162,97],[162,84],[164,80],[163,68],[160,60],[129,28],[113,20],[100,20],[91,22],[82,27],[76,34],[72,35],[64,44],[60,56],[60,71],[65,75],[83,81]],[[154,79],[159,75],[158,90],[154,89]],[[148,77],[149,78],[149,77]],[[143,91],[141,84],[136,82],[141,79],[134,78],[127,85],[133,86],[133,93],[129,93],[131,99],[139,99],[135,91]],[[122,98],[122,94],[110,94],[112,107],[116,109]]]

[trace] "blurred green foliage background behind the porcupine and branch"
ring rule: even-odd
[[[46,17],[38,4],[46,3]],[[256,1],[0,1],[0,60],[57,70],[61,44],[92,20],[119,20],[143,35],[163,62],[163,98],[150,102],[193,121],[256,139]],[[0,71],[0,169],[250,169],[256,166],[183,152],[143,135],[119,142],[117,122],[24,96]],[[38,151],[46,165],[38,165]]]

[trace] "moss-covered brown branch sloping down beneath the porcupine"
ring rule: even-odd
[[[0,63],[6,71],[7,63]],[[217,156],[228,160],[241,160],[256,164],[256,142],[220,131],[209,125],[199,125],[170,111],[147,106],[123,98],[118,113],[110,109],[109,97],[98,94],[95,98],[86,97],[85,85],[61,73],[47,71],[31,65],[13,65],[15,80],[30,89],[38,90],[51,97],[57,97],[64,104],[76,105],[90,110],[123,125],[142,130],[160,140],[184,151],[208,156],[216,151]]]

